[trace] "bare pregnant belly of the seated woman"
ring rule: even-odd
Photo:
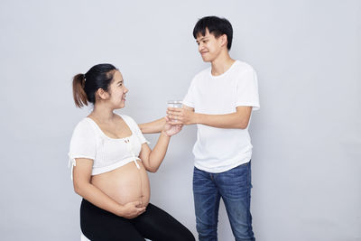
[[[92,176],[91,183],[121,205],[139,200],[146,207],[151,197],[148,174],[142,162],[129,162],[113,171]]]

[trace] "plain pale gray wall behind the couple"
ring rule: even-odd
[[[231,56],[255,67],[261,110],[253,144],[260,241],[361,240],[360,1],[0,2],[1,240],[79,240],[69,138],[89,109],[71,77],[114,63],[130,89],[120,113],[146,122],[182,98],[203,63],[191,31],[227,17]],[[154,144],[156,135],[147,135]],[[173,137],[150,174],[152,201],[196,235],[191,193],[195,126]],[[219,240],[233,240],[224,206]]]

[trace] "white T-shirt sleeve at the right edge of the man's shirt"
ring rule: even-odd
[[[236,107],[260,108],[257,75],[253,69],[245,70],[237,79]]]

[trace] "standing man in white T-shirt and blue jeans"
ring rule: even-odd
[[[193,196],[199,241],[218,240],[219,200],[223,199],[237,241],[255,240],[252,230],[251,155],[248,124],[258,109],[255,70],[229,56],[232,25],[224,18],[201,18],[193,30],[203,61],[211,66],[197,74],[182,108],[168,108],[171,124],[198,125]],[[152,133],[161,120],[140,125]]]

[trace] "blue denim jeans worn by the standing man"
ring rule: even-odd
[[[193,171],[193,196],[199,241],[217,241],[219,200],[223,199],[236,241],[254,241],[252,230],[251,162],[229,171]]]

